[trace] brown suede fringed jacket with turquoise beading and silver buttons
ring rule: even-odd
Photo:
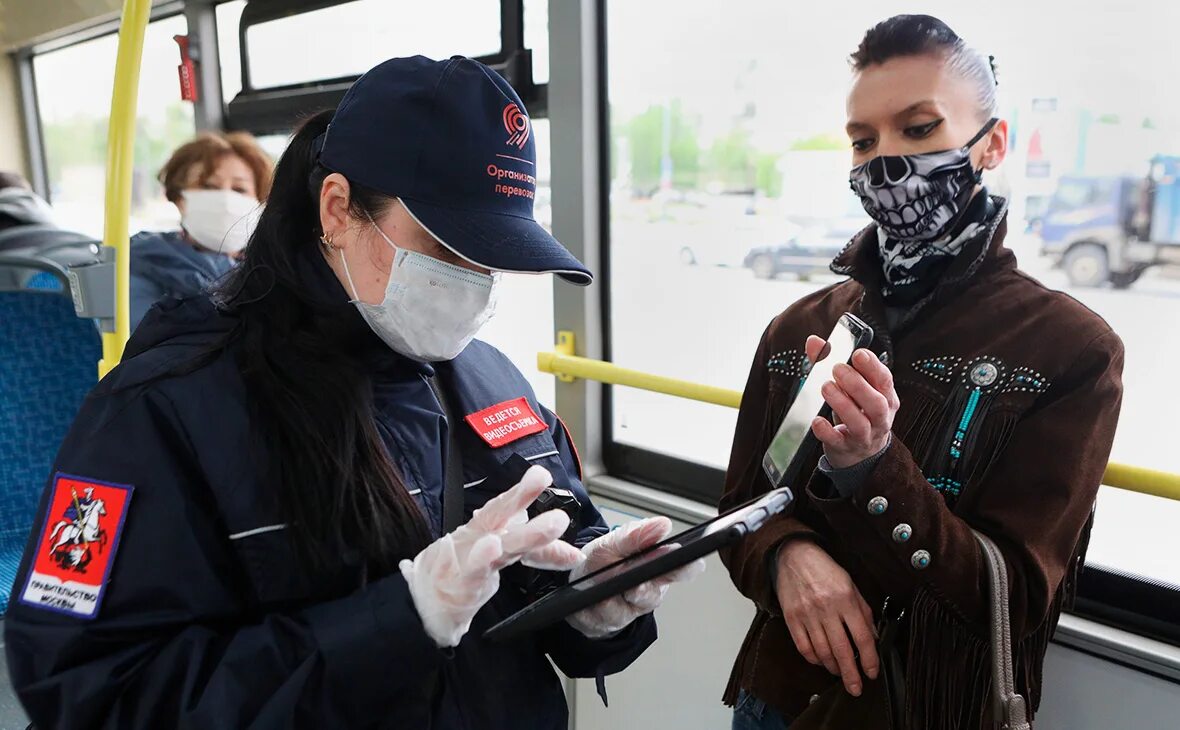
[[[1045,649],[1073,597],[1114,440],[1123,351],[1101,317],[1017,270],[1003,245],[1007,204],[995,202],[985,230],[892,330],[870,226],[832,265],[851,278],[800,300],[763,334],[722,509],[769,489],[761,460],[800,384],[804,343],[843,313],[872,325],[871,349],[892,369],[902,408],[892,445],[852,498],[838,498],[817,471],[821,451],[808,439],[788,512],[722,553],[758,606],[727,704],[745,689],[792,717],[839,682],[799,655],[775,598],[778,548],[814,540],[874,611],[886,598],[906,606],[905,729],[991,728],[990,601],[974,527],[1008,563],[1017,690],[1038,705]],[[887,500],[880,514],[868,511],[874,498]]]

